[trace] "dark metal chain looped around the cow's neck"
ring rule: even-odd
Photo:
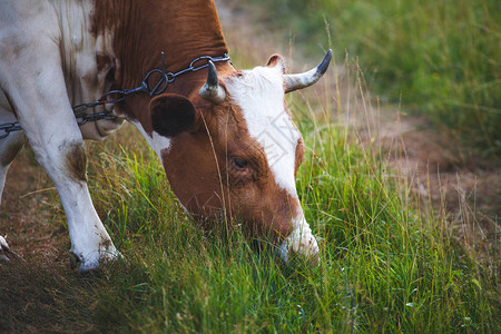
[[[204,61],[204,60],[206,61],[204,65],[196,66],[197,62]],[[145,78],[141,81],[141,86],[136,87],[134,89],[110,90],[110,91],[106,92],[105,95],[102,95],[96,101],[88,102],[88,104],[81,104],[81,105],[72,107],[73,112],[75,112],[75,118],[77,119],[77,124],[79,126],[82,126],[88,121],[97,121],[99,119],[108,119],[108,120],[117,119],[118,117],[110,115],[111,111],[108,111],[108,110],[105,110],[102,112],[94,112],[94,114],[87,114],[85,111],[87,109],[94,109],[97,106],[105,106],[105,105],[112,105],[112,104],[121,102],[127,97],[129,97],[131,95],[136,95],[136,94],[143,92],[143,94],[147,94],[149,96],[157,96],[157,95],[164,92],[167,89],[167,86],[170,82],[174,82],[174,80],[176,80],[176,77],[184,75],[188,71],[195,72],[203,68],[206,68],[209,66],[209,61],[213,61],[213,62],[229,61],[229,56],[226,53],[224,56],[219,56],[219,57],[202,56],[202,57],[194,59],[187,68],[173,73],[173,72],[165,71],[165,58],[164,58],[164,52],[161,52],[161,69],[156,68],[156,69],[153,69],[149,72],[147,72]],[[156,85],[153,86],[151,84],[155,82],[153,80],[153,77],[155,73],[157,73],[157,76],[155,76],[155,77],[158,77],[158,75],[159,75],[160,78],[156,82]],[[80,119],[80,120],[78,120],[78,119]],[[12,131],[20,131],[20,130],[22,130],[22,128],[18,121],[0,124],[0,132],[3,131],[3,134],[0,135],[0,139],[6,138]]]

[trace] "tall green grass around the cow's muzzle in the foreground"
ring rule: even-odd
[[[325,80],[338,81],[334,70]],[[364,89],[355,89],[357,99]],[[131,128],[115,137],[121,146],[90,145],[91,194],[126,258],[81,289],[92,301],[96,330],[499,331],[497,271],[484,269],[454,242],[444,219],[420,207],[376,148],[362,147],[354,129],[328,121],[350,111],[342,96],[330,105],[335,91],[341,89],[332,84],[316,98],[288,97],[310,148],[297,188],[321,245],[314,268],[286,266],[266,239],[238,228],[202,230]],[[314,99],[321,105],[305,104]]]

